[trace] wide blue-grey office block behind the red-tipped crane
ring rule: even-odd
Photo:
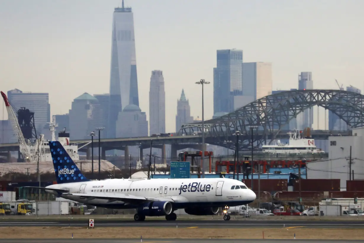
[[[29,111],[34,112],[34,126],[39,137],[39,134],[43,133],[44,126],[51,120],[49,94],[23,92],[18,89],[13,89],[8,91],[8,99],[15,109],[15,114],[21,107],[25,107]]]

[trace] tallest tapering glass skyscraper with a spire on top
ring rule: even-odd
[[[118,114],[127,105],[139,106],[134,19],[131,8],[115,8],[112,22],[108,137],[115,137]]]

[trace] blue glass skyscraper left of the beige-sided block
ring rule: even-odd
[[[234,111],[234,97],[242,95],[242,50],[217,50],[214,68],[214,114]]]

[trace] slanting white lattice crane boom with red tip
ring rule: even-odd
[[[0,93],[4,99],[6,110],[8,111],[8,119],[13,127],[14,132],[16,132],[16,134],[17,134],[20,153],[23,155],[25,162],[32,162],[33,160],[32,160],[32,157],[30,156],[30,151],[28,149],[27,143],[25,142],[23,133],[21,132],[21,129],[20,129],[17,117],[14,113],[14,110],[8,101],[8,97],[4,94],[3,91],[0,91]]]

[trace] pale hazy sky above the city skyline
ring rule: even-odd
[[[191,115],[213,115],[217,49],[242,49],[244,62],[272,62],[273,90],[339,83],[364,89],[363,0],[125,0],[134,12],[139,103],[149,120],[152,70],[162,70],[166,132],[174,132],[182,88]],[[51,114],[77,96],[108,93],[114,7],[121,0],[0,0],[0,90],[48,92]],[[0,119],[7,118],[3,105]],[[316,120],[316,119],[315,119]],[[314,125],[316,126],[316,125]],[[321,126],[321,125],[320,125]]]

